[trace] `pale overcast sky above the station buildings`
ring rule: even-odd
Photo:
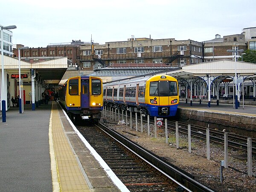
[[[1,0],[0,25],[13,44],[47,47],[81,40],[135,38],[207,41],[256,27],[255,0]]]

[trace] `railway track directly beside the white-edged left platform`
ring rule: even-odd
[[[193,176],[161,160],[137,143],[98,123],[94,127],[78,127],[131,192],[137,191],[212,191]]]

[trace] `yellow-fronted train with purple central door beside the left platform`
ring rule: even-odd
[[[73,122],[99,121],[103,110],[102,79],[76,76],[59,87],[59,101]]]

